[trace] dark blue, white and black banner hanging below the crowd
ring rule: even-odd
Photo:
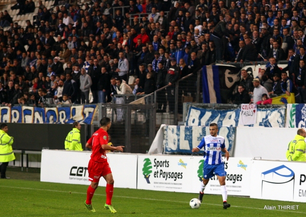
[[[203,102],[227,103],[239,81],[239,67],[228,65],[203,66]]]

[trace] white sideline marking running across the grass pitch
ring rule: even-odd
[[[23,188],[23,187],[13,187],[13,186],[3,186],[3,185],[0,185],[0,187],[4,187],[4,188],[18,188],[18,189],[36,190],[36,191],[51,191],[51,192],[59,192],[59,193],[70,193],[70,192],[67,192],[67,191],[57,191],[57,190],[50,190],[50,189]],[[71,192],[71,194],[87,195],[87,193],[83,193],[83,192]],[[100,195],[100,194],[95,194],[95,195],[96,196],[106,196],[106,195]],[[131,198],[131,199],[157,200],[157,201],[175,202],[175,203],[189,203],[189,202],[186,202],[186,201],[173,201],[173,200],[153,199],[153,198],[126,197],[126,196],[113,196],[113,197],[123,197],[123,198]],[[212,205],[212,206],[222,206],[220,204],[213,204],[213,203],[201,203],[201,204]],[[247,207],[247,206],[230,206],[230,207],[264,210],[263,208]],[[306,214],[304,212],[288,211],[288,210],[271,210],[271,211],[281,211],[281,212],[288,212],[288,213],[303,213],[303,214]]]

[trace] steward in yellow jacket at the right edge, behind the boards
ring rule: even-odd
[[[306,131],[304,129],[298,129],[295,138],[288,144],[286,152],[286,158],[289,161],[306,161]]]

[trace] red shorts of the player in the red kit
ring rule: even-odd
[[[99,182],[100,178],[112,173],[110,165],[107,161],[104,163],[96,162],[92,159],[88,163],[88,179],[89,181]]]

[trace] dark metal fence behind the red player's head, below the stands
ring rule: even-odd
[[[109,130],[114,146],[125,146],[126,153],[146,153],[155,137],[154,104],[98,104],[98,116],[111,118]],[[95,129],[98,129],[95,125]]]

